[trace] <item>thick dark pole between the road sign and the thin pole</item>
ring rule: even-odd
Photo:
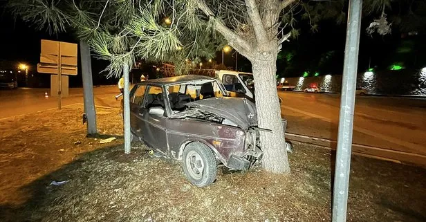
[[[89,45],[80,41],[80,59],[82,62],[84,113],[87,117],[87,134],[98,133],[96,129],[96,110],[93,100],[92,63]]]

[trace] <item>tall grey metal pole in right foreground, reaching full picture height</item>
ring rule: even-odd
[[[349,0],[348,28],[344,53],[342,98],[340,100],[339,132],[335,160],[333,190],[333,222],[346,221],[355,87],[360,45],[362,0]]]

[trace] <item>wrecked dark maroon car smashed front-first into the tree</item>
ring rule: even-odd
[[[131,89],[129,100],[132,140],[180,160],[198,187],[214,182],[219,164],[247,170],[261,161],[255,105],[230,98],[214,77],[147,80]]]

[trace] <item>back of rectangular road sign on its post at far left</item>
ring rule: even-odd
[[[57,107],[61,109],[62,74],[77,75],[77,44],[41,39],[40,63],[37,64],[37,71],[39,73],[57,74]],[[50,82],[50,89],[53,88],[52,81]],[[68,91],[68,82],[66,83],[66,91]]]

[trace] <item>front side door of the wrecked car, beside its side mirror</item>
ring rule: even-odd
[[[147,95],[145,95],[145,103],[140,111],[139,127],[143,134],[143,140],[152,149],[159,149],[165,154],[167,153],[167,138],[166,138],[166,115],[156,115],[149,113],[151,108],[162,108],[165,110],[165,100],[162,100],[164,95],[163,89],[160,86],[148,86]],[[168,102],[166,100],[166,102]],[[166,112],[165,112],[166,113]]]

